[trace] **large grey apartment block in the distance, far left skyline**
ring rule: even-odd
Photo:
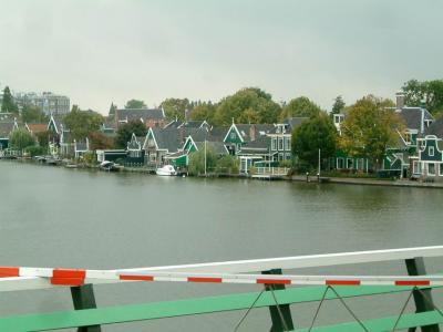
[[[52,92],[43,92],[42,94],[34,92],[17,93],[14,100],[20,111],[23,110],[24,105],[38,106],[47,115],[63,115],[71,111],[70,98]]]

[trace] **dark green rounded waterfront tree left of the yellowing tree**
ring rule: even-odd
[[[319,149],[321,158],[332,157],[336,153],[337,136],[337,129],[330,117],[320,112],[292,132],[292,154],[298,163],[308,164],[317,169]]]

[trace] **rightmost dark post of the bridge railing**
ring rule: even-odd
[[[423,257],[415,257],[411,259],[406,259],[406,269],[409,276],[423,276],[426,274],[426,269],[424,267]],[[424,311],[433,311],[433,300],[431,294],[431,289],[424,289],[422,292],[429,299],[427,301],[424,299],[423,294],[418,291],[414,291],[414,302],[415,302],[415,312],[424,312]],[[431,303],[430,303],[431,302]],[[409,329],[410,332],[415,331],[416,328]],[[439,324],[422,326],[422,332],[440,332]]]

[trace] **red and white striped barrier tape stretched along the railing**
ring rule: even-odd
[[[0,267],[0,278],[38,277],[52,284],[82,286],[94,280],[256,283],[292,286],[443,286],[443,276],[292,276],[192,272],[119,272],[113,270]]]

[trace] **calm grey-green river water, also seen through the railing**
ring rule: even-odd
[[[115,269],[441,245],[442,203],[439,189],[164,178],[0,162],[0,266]],[[429,272],[442,271],[442,260],[426,262]],[[387,274],[405,269],[402,262],[390,262],[302,272]],[[99,286],[95,293],[103,307],[257,290],[132,283]],[[402,299],[350,303],[371,318],[395,314]],[[0,297],[0,315],[71,308],[66,289]],[[296,324],[309,324],[313,309],[292,305]],[[231,331],[241,315],[218,313],[103,330]],[[348,314],[332,302],[320,317],[324,322],[342,319],[349,320]],[[240,331],[268,328],[267,310],[255,309]]]

